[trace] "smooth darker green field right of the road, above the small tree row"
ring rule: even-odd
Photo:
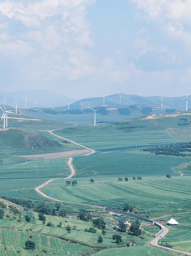
[[[73,164],[76,177],[92,175],[163,176],[171,172],[171,165],[180,165],[191,158],[171,157],[154,154],[136,154],[138,152],[113,152],[76,157]],[[173,175],[178,175],[173,173]]]

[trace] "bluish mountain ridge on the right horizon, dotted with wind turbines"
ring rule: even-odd
[[[170,109],[185,109],[186,108],[186,100],[181,100],[185,96],[181,97],[163,97],[163,108]],[[191,99],[191,96],[188,96]],[[86,109],[89,107],[99,107],[103,106],[105,103],[105,107],[129,107],[129,106],[137,106],[137,107],[161,107],[161,98],[160,96],[152,96],[152,97],[144,97],[138,95],[129,95],[129,94],[121,94],[121,103],[120,103],[120,95],[113,94],[110,96],[106,96],[105,99],[103,97],[95,97],[95,98],[86,98],[70,104],[70,109]],[[68,106],[57,107],[57,109],[66,110]],[[188,109],[191,109],[191,101],[188,102]]]

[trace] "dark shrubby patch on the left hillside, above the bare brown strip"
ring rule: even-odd
[[[25,146],[27,149],[50,149],[52,147],[62,147],[60,143],[55,140],[49,139],[44,135],[28,136],[25,140]]]

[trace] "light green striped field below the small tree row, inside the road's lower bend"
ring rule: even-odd
[[[78,180],[78,179],[77,179]],[[117,180],[117,177],[116,177]],[[63,186],[61,181],[54,181],[51,187],[42,191],[54,193],[54,198],[93,205],[124,207],[125,203],[136,206],[134,211],[140,215],[156,218],[165,214],[188,211],[190,177],[143,178],[141,181],[111,182],[97,178],[94,184],[81,179],[77,186]],[[87,184],[89,183],[89,184]]]

